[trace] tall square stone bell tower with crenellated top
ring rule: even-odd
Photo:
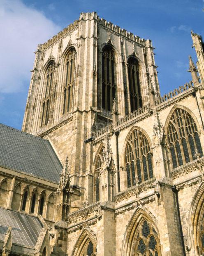
[[[48,139],[61,161],[68,155],[72,184],[92,181],[97,130],[160,96],[153,49],[95,12],[38,45],[22,130]]]

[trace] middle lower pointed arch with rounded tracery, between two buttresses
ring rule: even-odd
[[[130,219],[123,241],[123,256],[161,256],[158,228],[151,215],[138,207]]]

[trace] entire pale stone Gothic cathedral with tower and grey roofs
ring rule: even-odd
[[[0,255],[204,255],[204,45],[160,95],[154,47],[81,13],[39,44],[0,124]]]

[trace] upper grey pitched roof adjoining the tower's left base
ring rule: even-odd
[[[0,166],[59,182],[63,168],[48,140],[0,124]]]

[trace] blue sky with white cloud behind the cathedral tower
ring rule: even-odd
[[[190,30],[204,37],[204,0],[0,0],[0,123],[21,129],[37,44],[93,11],[153,41],[162,95],[191,80]]]

